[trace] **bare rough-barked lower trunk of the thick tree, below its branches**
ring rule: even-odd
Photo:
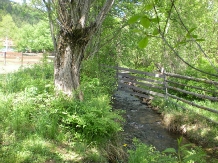
[[[74,96],[83,100],[80,86],[80,69],[84,58],[87,41],[82,35],[75,33],[60,32],[57,55],[55,57],[55,88],[68,96]],[[85,36],[83,34],[83,36]]]

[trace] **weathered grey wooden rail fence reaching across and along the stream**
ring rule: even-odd
[[[212,102],[218,101],[218,82],[173,73],[150,73],[133,70],[118,66],[109,67],[116,70],[118,89],[131,93],[132,95],[153,99],[155,96],[161,98],[173,98],[177,101],[195,106],[197,108],[217,114],[218,110],[194,103],[193,99],[203,99]],[[180,82],[178,82],[178,79]],[[202,88],[199,83],[203,83]],[[194,84],[194,85],[193,85]],[[209,86],[208,86],[209,85]],[[202,86],[202,84],[201,84]],[[208,89],[211,88],[211,89]],[[198,93],[200,92],[200,93]],[[203,94],[202,94],[203,92]],[[178,94],[181,94],[179,97]],[[186,98],[181,98],[186,96]],[[183,106],[180,106],[183,109]],[[199,115],[201,116],[201,115]],[[208,121],[218,124],[218,122],[204,117]]]

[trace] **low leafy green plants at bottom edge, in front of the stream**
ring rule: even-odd
[[[178,151],[174,148],[167,148],[163,152],[155,150],[134,139],[135,150],[129,150],[129,163],[204,163],[205,153],[200,147],[189,148],[191,145],[182,145],[182,138],[178,139]]]

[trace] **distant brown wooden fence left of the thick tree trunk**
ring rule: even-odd
[[[3,65],[20,65],[33,64],[39,62],[42,54],[27,54],[18,52],[0,52],[0,64]]]

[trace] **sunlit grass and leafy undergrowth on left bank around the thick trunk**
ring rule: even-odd
[[[55,95],[50,63],[1,75],[0,162],[107,162],[101,143],[122,118],[100,81],[89,81],[80,102]]]

